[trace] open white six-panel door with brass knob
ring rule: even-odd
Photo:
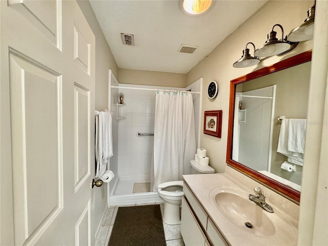
[[[0,245],[94,244],[94,35],[75,1],[0,16]]]

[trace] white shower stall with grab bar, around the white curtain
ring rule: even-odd
[[[110,110],[113,112],[113,148],[110,167],[115,178],[110,181],[108,203],[112,205],[161,201],[150,191],[154,146],[154,120],[157,90],[192,89],[195,114],[196,146],[199,146],[202,79],[187,88],[169,88],[119,84],[111,74]],[[123,94],[124,105],[118,105]],[[113,160],[112,160],[113,159]]]

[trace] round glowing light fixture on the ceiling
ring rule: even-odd
[[[179,7],[187,15],[201,15],[208,12],[215,4],[212,0],[180,0]]]

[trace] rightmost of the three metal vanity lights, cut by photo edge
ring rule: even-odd
[[[291,42],[301,42],[313,38],[315,9],[316,1],[314,1],[314,5],[308,10],[308,18],[304,20],[303,24],[292,30],[291,33],[287,35],[287,40]]]

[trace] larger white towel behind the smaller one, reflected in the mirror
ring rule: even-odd
[[[289,162],[303,166],[303,154],[288,150],[289,122],[290,119],[283,119],[281,122],[277,152],[289,157]],[[293,162],[292,159],[295,159],[297,163]]]

